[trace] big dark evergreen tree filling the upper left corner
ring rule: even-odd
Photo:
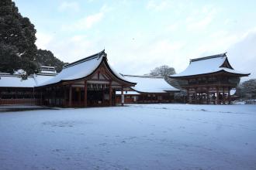
[[[12,0],[0,1],[0,71],[13,73],[22,69],[36,72],[36,29],[22,17]]]

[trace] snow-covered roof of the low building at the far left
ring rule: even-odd
[[[0,87],[26,87],[33,88],[38,83],[43,83],[47,80],[50,80],[55,75],[43,75],[43,74],[34,74],[28,76],[26,80],[22,80],[20,74],[9,74],[9,73],[0,73]]]

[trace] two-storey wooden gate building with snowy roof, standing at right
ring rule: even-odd
[[[169,76],[187,91],[189,104],[230,104],[230,90],[250,73],[234,70],[226,54],[191,59],[182,73]]]

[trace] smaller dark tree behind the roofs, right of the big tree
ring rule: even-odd
[[[62,67],[67,64],[57,59],[49,50],[39,49],[36,53],[36,62],[41,66],[56,66],[57,73],[61,72]]]

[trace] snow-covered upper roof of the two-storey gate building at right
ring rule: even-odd
[[[215,56],[191,59],[189,66],[182,73],[177,73],[175,75],[171,75],[170,77],[195,76],[222,71],[226,73],[239,74],[240,76],[248,76],[250,74],[234,70],[228,62],[226,53],[222,53]]]

